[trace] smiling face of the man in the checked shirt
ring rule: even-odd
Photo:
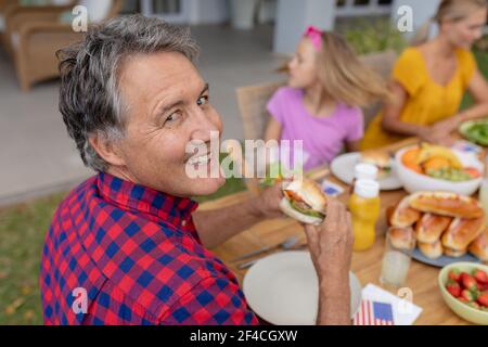
[[[203,141],[209,153],[210,131],[220,133],[222,124],[206,82],[183,54],[133,56],[123,64],[119,86],[128,111],[126,137],[117,149],[127,178],[176,196],[211,194],[224,183],[221,175],[210,178],[218,157],[192,165],[207,167],[208,178],[190,178],[185,171],[193,156],[187,145]]]

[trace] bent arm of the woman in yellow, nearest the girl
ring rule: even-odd
[[[396,81],[390,82],[389,89],[393,94],[393,101],[385,103],[383,106],[383,129],[395,134],[424,138],[428,129],[427,127],[400,120],[401,111],[409,98],[407,90]]]

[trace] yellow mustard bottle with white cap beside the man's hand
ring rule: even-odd
[[[373,180],[358,180],[349,198],[355,235],[354,250],[367,250],[376,237],[376,221],[380,217],[380,183]]]

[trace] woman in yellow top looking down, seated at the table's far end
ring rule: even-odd
[[[444,0],[393,70],[393,101],[372,120],[362,150],[376,149],[406,137],[447,144],[460,123],[488,116],[488,83],[478,70],[471,48],[483,35],[486,0]],[[427,41],[433,22],[438,36]],[[465,91],[475,100],[459,108]]]

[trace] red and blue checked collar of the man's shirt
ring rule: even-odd
[[[106,172],[98,175],[97,185],[100,195],[105,200],[126,209],[151,214],[174,226],[189,220],[191,214],[198,207],[191,198],[162,193]]]

